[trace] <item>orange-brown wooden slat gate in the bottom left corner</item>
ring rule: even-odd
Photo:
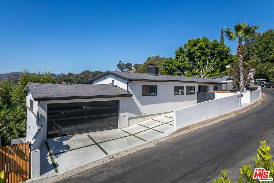
[[[30,142],[1,146],[0,151],[4,182],[18,183],[30,178]]]

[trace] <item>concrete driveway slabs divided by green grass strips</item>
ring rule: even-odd
[[[173,112],[131,125],[45,140],[40,147],[40,175],[73,169],[112,154],[169,136]]]

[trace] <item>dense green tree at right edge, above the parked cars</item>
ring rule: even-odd
[[[262,62],[274,62],[271,57],[274,49],[274,29],[268,29],[264,33],[259,33],[254,41],[255,55]]]

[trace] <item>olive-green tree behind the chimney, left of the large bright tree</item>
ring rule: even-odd
[[[138,64],[138,67],[135,72],[147,73],[147,67],[149,66],[149,64],[155,64],[159,67],[159,74],[163,74],[163,61],[165,59],[165,57],[161,57],[160,55],[147,57],[147,60],[143,64]]]

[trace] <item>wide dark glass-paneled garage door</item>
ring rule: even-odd
[[[118,128],[118,100],[47,105],[47,138]]]

